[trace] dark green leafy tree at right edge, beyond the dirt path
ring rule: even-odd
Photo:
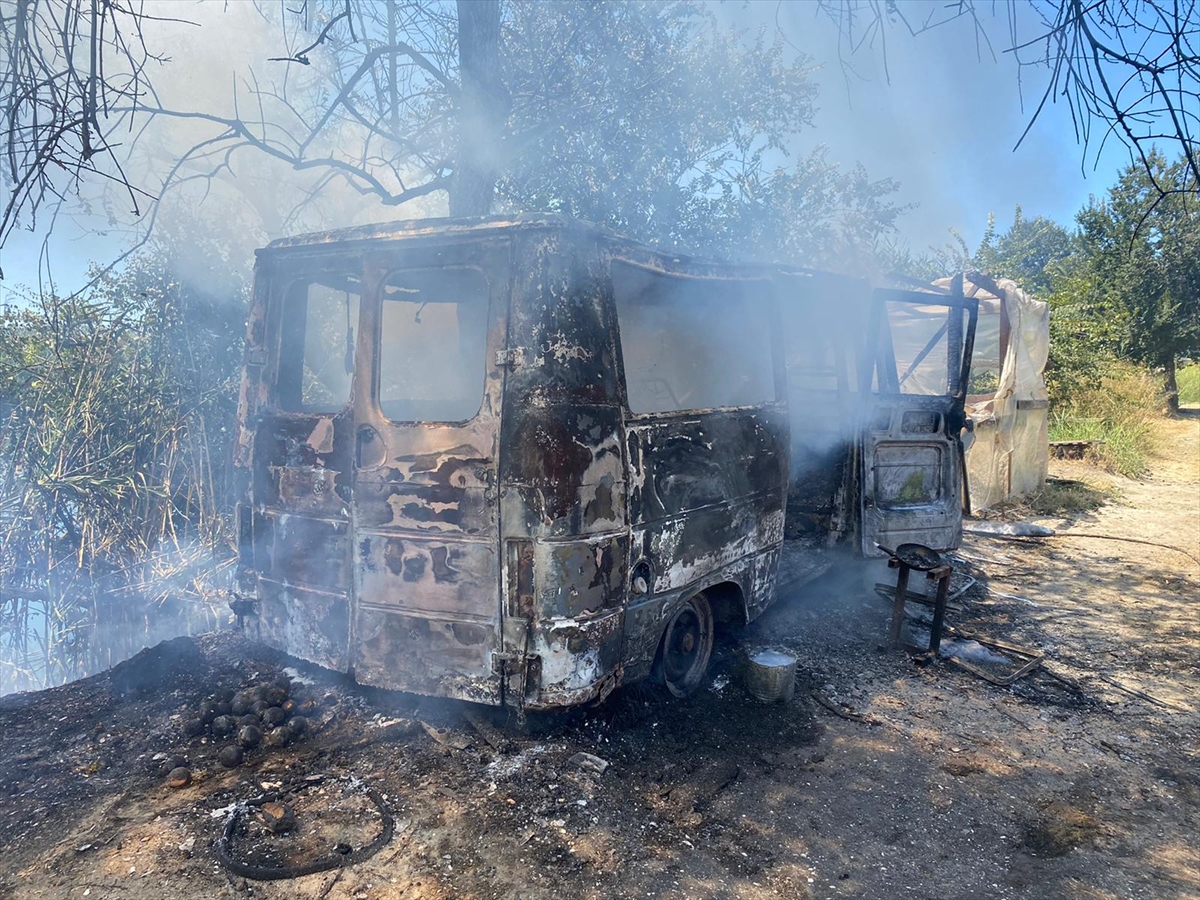
[[[1172,410],[1178,409],[1176,360],[1200,353],[1195,190],[1187,160],[1170,162],[1154,151],[1078,216],[1096,288],[1121,311],[1121,350],[1163,370]]]

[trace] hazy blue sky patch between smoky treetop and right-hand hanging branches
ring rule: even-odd
[[[947,18],[953,6],[913,0],[902,12],[919,26]],[[1019,74],[1006,53],[1039,34],[1032,6],[1018,10],[1015,34],[1008,5],[1000,4],[979,10],[982,31],[964,17],[910,35],[893,18],[886,34],[864,32],[870,40],[857,48],[839,40],[815,5],[716,8],[730,23],[778,28],[820,66],[820,108],[796,146],[822,144],[844,166],[862,162],[875,178],[895,179],[896,199],[911,205],[899,234],[917,252],[944,247],[950,228],[973,246],[989,211],[1007,218],[1018,204],[1027,215],[1069,223],[1129,162],[1116,142],[1085,158],[1069,110],[1054,97],[1016,146],[1045,88],[1042,70]]]

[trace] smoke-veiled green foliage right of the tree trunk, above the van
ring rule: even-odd
[[[506,130],[520,139],[504,155],[503,208],[683,252],[856,271],[894,230],[895,182],[823,149],[788,158],[816,84],[781,37],[748,38],[690,1],[505,10]]]

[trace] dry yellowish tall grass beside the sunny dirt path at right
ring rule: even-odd
[[[1150,372],[1115,365],[1099,388],[1076,392],[1050,410],[1050,440],[1094,440],[1092,458],[1128,478],[1146,474],[1163,389]]]

